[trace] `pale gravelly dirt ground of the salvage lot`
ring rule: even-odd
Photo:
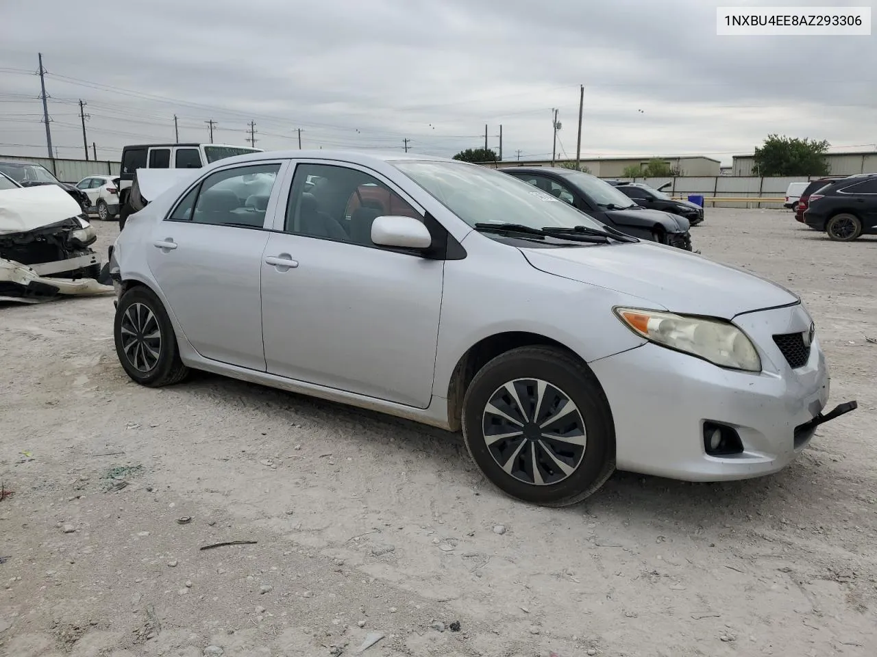
[[[356,654],[369,632],[369,657],[877,654],[877,240],[775,210],[693,233],[802,293],[830,404],[859,410],[777,476],[617,473],[560,510],[497,493],[452,434],[208,375],[134,385],[111,297],[0,307],[0,654]],[[227,540],[258,542],[199,549]]]

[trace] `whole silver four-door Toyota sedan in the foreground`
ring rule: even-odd
[[[195,368],[461,429],[494,484],[541,505],[615,468],[775,472],[855,407],[821,413],[794,293],[453,160],[223,159],[128,218],[111,274],[138,383]]]

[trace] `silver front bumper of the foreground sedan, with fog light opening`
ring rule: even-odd
[[[745,479],[791,463],[815,431],[807,423],[829,397],[829,375],[818,340],[793,370],[774,335],[809,329],[798,304],[735,320],[759,350],[760,373],[725,370],[656,344],[591,364],[616,425],[617,467],[687,481]],[[736,429],[743,452],[709,456],[703,425]]]

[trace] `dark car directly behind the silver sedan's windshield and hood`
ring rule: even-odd
[[[627,235],[691,251],[685,217],[640,208],[616,187],[590,173],[550,166],[509,166],[500,171],[566,201]]]

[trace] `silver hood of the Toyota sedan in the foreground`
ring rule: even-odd
[[[772,281],[663,244],[521,251],[542,272],[631,294],[673,313],[730,320],[740,313],[800,301]]]

